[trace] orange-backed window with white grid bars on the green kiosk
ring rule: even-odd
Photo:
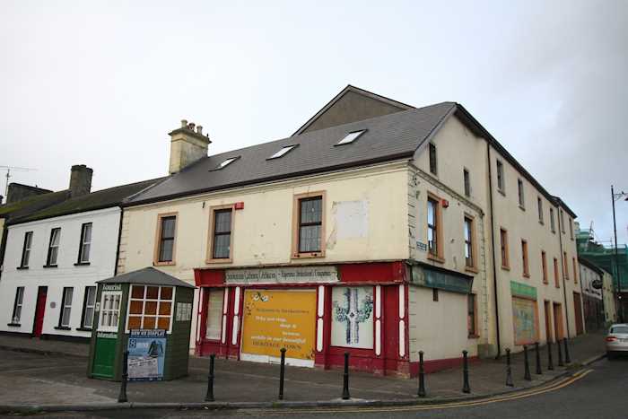
[[[126,329],[161,328],[170,331],[173,300],[171,286],[132,285]]]

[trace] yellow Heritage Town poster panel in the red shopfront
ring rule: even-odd
[[[315,290],[246,290],[242,320],[243,354],[314,359]]]

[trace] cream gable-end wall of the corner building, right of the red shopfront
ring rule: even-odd
[[[480,137],[473,135],[458,118],[449,118],[432,138],[437,147],[438,174],[430,172],[428,144],[425,143],[414,157],[414,167],[409,170],[408,178],[408,223],[410,225],[409,248],[410,258],[432,265],[474,276],[472,292],[477,301],[477,328],[479,337],[467,338],[467,299],[453,298],[453,292],[447,292],[450,301],[462,304],[459,313],[462,316],[456,319],[464,326],[460,329],[460,342],[471,347],[471,344],[480,345],[482,355],[492,353],[489,346],[494,345],[494,305],[492,265],[490,256],[490,235],[487,233],[490,224],[483,208],[487,207],[487,179],[484,176],[486,167],[486,144]],[[470,173],[471,194],[465,196],[463,170]],[[416,242],[427,243],[427,195],[428,192],[449,201],[449,207],[443,208],[442,237],[444,241],[444,263],[427,258],[427,251],[419,249]],[[478,272],[472,272],[465,266],[464,248],[464,217],[465,214],[475,217],[475,257],[477,258]],[[432,303],[432,290],[429,292]],[[444,293],[444,292],[440,292]],[[458,296],[457,296],[458,297]],[[459,300],[459,301],[458,301]],[[440,301],[441,305],[446,304]],[[449,306],[449,304],[448,304]],[[410,310],[414,310],[412,307]],[[458,308],[456,309],[458,310]],[[411,319],[412,321],[412,319]],[[457,323],[457,324],[458,324]],[[438,329],[437,329],[438,330]],[[427,332],[430,335],[432,332]],[[449,334],[448,334],[449,336]],[[450,336],[449,336],[450,337]],[[412,338],[412,337],[411,337]],[[462,344],[460,344],[462,345]],[[458,346],[460,346],[458,345]],[[476,349],[476,345],[473,345]],[[467,350],[471,351],[471,349]],[[460,347],[459,351],[464,347]],[[476,351],[469,353],[470,356]],[[417,351],[420,349],[417,349]],[[423,350],[424,351],[424,350]],[[417,356],[416,354],[413,354]]]

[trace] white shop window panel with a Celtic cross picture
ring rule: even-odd
[[[373,287],[336,286],[332,291],[331,345],[373,347]]]

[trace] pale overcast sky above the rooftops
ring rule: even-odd
[[[16,182],[63,189],[79,163],[92,190],[159,177],[181,118],[224,152],[292,134],[351,83],[462,103],[601,240],[610,185],[628,192],[624,0],[0,8],[0,165],[37,169]],[[617,216],[626,242],[628,202]]]

